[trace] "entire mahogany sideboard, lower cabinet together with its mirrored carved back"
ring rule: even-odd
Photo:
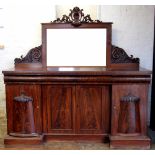
[[[60,42],[68,34],[61,35],[59,30],[89,33],[80,36],[71,33]],[[51,65],[58,47],[62,46],[62,54],[54,58],[56,62],[74,58],[82,66],[80,60],[87,62],[90,58],[90,44],[96,46],[99,42],[98,36],[91,40],[94,33],[90,32],[98,30],[102,32],[97,33],[102,48],[93,49],[93,53],[101,50],[104,56],[96,55],[97,65],[93,64],[94,56],[89,60],[93,65],[85,65],[88,67],[72,63],[70,67]],[[52,38],[54,31],[59,33]],[[70,10],[68,16],[42,23],[42,45],[31,49],[25,57],[16,58],[13,70],[3,71],[8,134],[5,144],[92,140],[109,142],[111,148],[150,148],[147,109],[151,72],[139,69],[139,58],[128,56],[122,48],[112,45],[111,35],[112,22],[92,20],[78,7]],[[87,38],[82,40],[83,37]],[[56,38],[58,44],[53,48]],[[81,44],[82,48],[74,53]],[[70,54],[65,53],[70,46]]]

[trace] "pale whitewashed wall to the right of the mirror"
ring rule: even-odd
[[[100,19],[113,22],[112,43],[140,58],[140,66],[152,70],[154,6],[100,6]]]

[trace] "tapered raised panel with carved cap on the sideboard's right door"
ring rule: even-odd
[[[140,98],[131,93],[120,98],[119,133],[132,134],[140,132],[139,101]]]

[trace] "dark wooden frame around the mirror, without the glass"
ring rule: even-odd
[[[103,28],[106,29],[106,66],[109,67],[111,64],[111,29],[112,23],[82,23],[78,26],[75,26],[71,23],[42,23],[42,65],[43,67],[52,67],[47,66],[47,29],[89,29],[89,28]],[[57,66],[59,67],[59,66]],[[76,67],[76,66],[73,66]],[[94,66],[95,67],[95,66]]]

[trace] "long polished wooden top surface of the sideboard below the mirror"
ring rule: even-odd
[[[110,70],[105,67],[50,67],[34,69],[10,69],[3,71],[4,75],[150,75],[150,70],[140,68],[139,70]]]

